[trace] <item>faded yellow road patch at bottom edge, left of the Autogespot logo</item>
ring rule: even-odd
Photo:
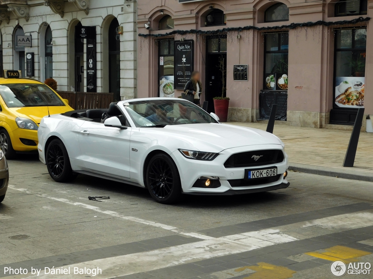
[[[242,268],[242,267],[241,267]],[[245,266],[256,272],[244,279],[287,279],[293,277],[294,270],[283,266],[275,266],[269,263],[257,263],[256,266]]]

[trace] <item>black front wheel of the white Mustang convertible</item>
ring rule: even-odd
[[[181,194],[178,169],[166,154],[151,158],[147,167],[147,186],[150,195],[160,203],[173,203]]]

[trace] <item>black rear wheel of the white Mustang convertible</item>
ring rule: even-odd
[[[61,140],[50,142],[46,153],[46,163],[49,175],[57,182],[67,182],[76,178],[70,165],[68,151]]]

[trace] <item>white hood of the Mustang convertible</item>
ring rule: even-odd
[[[282,144],[276,136],[265,131],[228,124],[182,124],[143,129],[156,130],[163,135],[188,141],[200,151],[220,152],[247,145]]]

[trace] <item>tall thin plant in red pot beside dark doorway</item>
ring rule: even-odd
[[[220,122],[226,122],[228,118],[228,107],[229,107],[229,98],[224,97],[224,93],[226,92],[226,80],[225,76],[227,74],[227,68],[225,67],[225,58],[223,56],[219,57],[219,64],[217,67],[222,72],[222,96],[214,97],[214,108],[215,113],[219,117]]]

